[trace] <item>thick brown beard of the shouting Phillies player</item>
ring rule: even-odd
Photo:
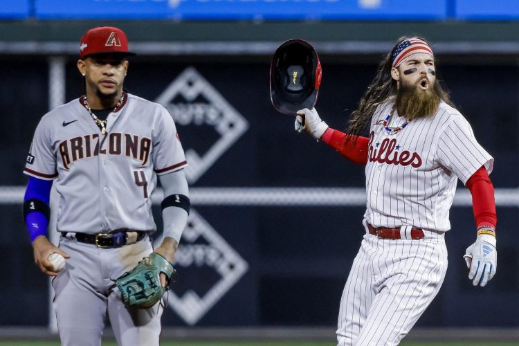
[[[409,121],[434,116],[441,100],[437,83],[435,80],[425,91],[419,91],[417,84],[401,84],[395,102],[399,116],[405,116]]]

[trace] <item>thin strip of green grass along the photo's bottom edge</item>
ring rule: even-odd
[[[55,342],[39,342],[39,341],[0,341],[0,346],[59,346],[60,343]],[[103,346],[117,346],[116,343],[103,343]],[[185,342],[163,342],[161,346],[333,346],[334,343],[302,343],[302,342],[237,342],[237,341],[206,341],[206,342],[193,342],[193,343],[185,343]],[[517,343],[474,343],[466,342],[466,343],[401,343],[401,346],[517,346]]]

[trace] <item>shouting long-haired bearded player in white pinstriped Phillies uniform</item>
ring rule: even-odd
[[[457,179],[471,191],[477,225],[464,256],[468,277],[475,286],[491,280],[493,158],[441,89],[424,39],[394,45],[347,134],[329,128],[316,109],[298,111],[295,129],[365,165],[365,235],[340,302],[338,345],[397,345],[435,298],[447,270],[444,235]]]

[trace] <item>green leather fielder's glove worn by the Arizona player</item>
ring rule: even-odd
[[[161,285],[161,273],[167,278],[165,287]],[[128,307],[152,307],[170,289],[174,274],[173,264],[158,253],[151,253],[134,269],[118,277],[116,286],[122,295],[122,302]]]

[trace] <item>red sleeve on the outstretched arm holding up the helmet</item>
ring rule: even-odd
[[[337,152],[347,158],[349,161],[366,165],[367,163],[367,137],[353,136],[346,143],[347,134],[337,131],[329,127],[321,136],[321,140],[329,147],[337,150]]]

